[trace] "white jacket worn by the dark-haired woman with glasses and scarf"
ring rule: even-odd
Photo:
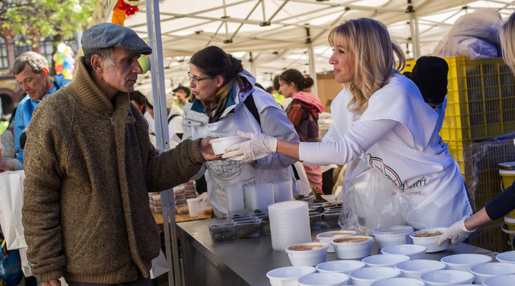
[[[249,72],[244,70],[239,76],[254,86],[255,79]],[[244,100],[251,94],[260,115],[261,126],[244,104]],[[237,131],[244,131],[261,132],[279,139],[298,142],[298,135],[293,124],[272,95],[255,87],[253,90],[242,93],[237,81],[234,81],[229,96],[230,99],[221,119],[214,123],[208,123],[209,118],[204,113],[204,106],[197,99],[192,103],[186,103],[182,122],[183,140],[208,136],[235,136]],[[204,166],[207,166],[208,169],[206,172],[208,196],[215,215],[217,217],[228,215],[226,187],[242,186],[245,188],[256,184],[293,181],[293,171],[290,166],[294,162],[296,161],[279,154],[270,154],[257,160],[255,164],[241,164],[233,160],[206,162]],[[206,168],[203,168],[201,173],[204,173],[205,170]],[[200,176],[201,173],[198,175]],[[293,191],[295,192],[295,190]]]

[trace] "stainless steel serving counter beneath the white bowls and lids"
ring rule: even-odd
[[[207,223],[211,220],[180,222],[181,252],[186,286],[189,285],[270,285],[266,272],[278,267],[291,266],[288,254],[272,249],[271,236],[235,238],[213,241]],[[324,231],[338,228],[322,227],[311,231],[312,241]],[[372,244],[370,254],[378,254],[377,244]],[[426,254],[426,259],[440,260],[444,256],[464,253],[484,253],[495,260],[496,253],[460,243],[446,251]],[[326,261],[336,260],[328,253]]]

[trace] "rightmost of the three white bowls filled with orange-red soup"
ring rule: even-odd
[[[339,259],[355,259],[370,255],[374,238],[372,236],[349,236],[331,241]]]

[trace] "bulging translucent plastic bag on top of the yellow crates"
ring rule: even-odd
[[[466,56],[469,59],[500,57],[499,27],[503,19],[498,10],[469,13],[458,19],[435,47],[438,57]]]

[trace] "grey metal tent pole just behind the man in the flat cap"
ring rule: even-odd
[[[150,66],[152,67],[152,97],[154,99],[154,122],[156,130],[156,145],[158,149],[169,150],[168,114],[166,110],[166,91],[163,61],[163,46],[161,43],[161,19],[159,15],[159,0],[145,0],[147,12],[148,44],[152,48]],[[163,205],[163,226],[165,231],[165,250],[168,258],[168,284],[181,285],[181,269],[179,266],[179,247],[177,245],[177,225],[175,225],[175,208],[173,189],[161,192]],[[168,218],[168,215],[170,218]]]

